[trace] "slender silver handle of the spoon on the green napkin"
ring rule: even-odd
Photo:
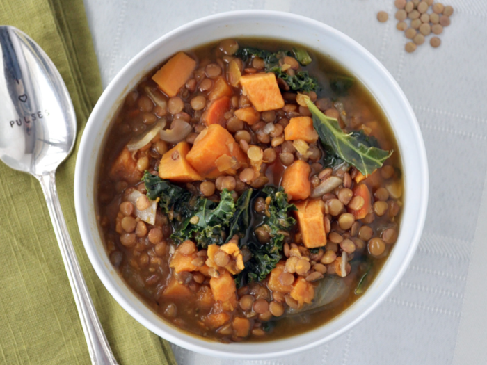
[[[49,209],[54,232],[58,238],[59,249],[67,271],[67,277],[70,279],[74,301],[78,307],[79,319],[88,343],[91,363],[93,365],[116,365],[117,361],[113,357],[109,342],[106,340],[101,323],[99,323],[97,312],[91,301],[90,293],[74,252],[70,234],[67,231],[56,190],[55,172],[50,172],[49,175],[36,175],[35,177],[40,181],[44,191],[47,208]]]

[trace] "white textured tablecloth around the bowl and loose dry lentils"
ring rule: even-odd
[[[452,25],[406,54],[393,0],[84,0],[103,85],[147,44],[193,19],[229,10],[305,15],[381,60],[410,100],[429,160],[430,198],[413,262],[365,321],[306,353],[228,361],[173,346],[178,364],[487,363],[487,0],[451,0]],[[447,3],[445,3],[447,5]],[[376,13],[390,19],[381,24]]]

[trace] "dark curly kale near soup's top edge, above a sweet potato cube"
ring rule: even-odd
[[[293,49],[294,55],[302,65],[308,65],[311,62],[310,55],[304,49]],[[296,54],[297,52],[297,54]],[[282,71],[279,65],[280,58],[285,56],[292,56],[290,51],[271,52],[265,49],[258,48],[241,48],[237,51],[237,56],[246,61],[250,57],[260,57],[266,64],[267,72],[274,72],[276,77],[284,80],[289,88],[293,91],[316,91],[318,89],[318,81],[308,74],[308,71],[298,71],[294,76],[290,76],[287,72]],[[299,55],[299,58],[298,56]],[[309,62],[308,62],[309,61]]]

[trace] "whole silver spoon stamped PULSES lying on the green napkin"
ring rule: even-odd
[[[56,66],[28,35],[0,26],[0,160],[40,181],[92,364],[117,364],[79,267],[55,172],[76,138],[76,115]]]

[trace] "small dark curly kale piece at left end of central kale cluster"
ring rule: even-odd
[[[159,197],[159,206],[163,213],[168,213],[173,206],[186,205],[191,199],[191,193],[184,188],[171,184],[157,175],[145,171],[142,178],[147,190],[147,197],[156,200]]]

